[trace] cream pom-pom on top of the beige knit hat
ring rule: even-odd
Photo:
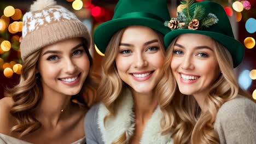
[[[42,10],[55,4],[56,2],[54,0],[37,0],[31,5],[30,10],[31,11]]]

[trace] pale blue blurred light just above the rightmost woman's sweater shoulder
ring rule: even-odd
[[[252,79],[249,77],[249,74],[249,70],[243,70],[242,73],[238,76],[239,86],[246,91],[252,85]]]

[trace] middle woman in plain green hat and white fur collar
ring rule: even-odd
[[[113,19],[94,32],[104,53],[97,90],[101,103],[85,117],[87,143],[172,143],[164,131],[156,87],[161,79],[163,36],[170,19],[165,0],[120,0]]]

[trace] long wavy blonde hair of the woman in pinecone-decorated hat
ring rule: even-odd
[[[170,69],[176,40],[177,38],[168,46],[166,61],[162,68],[164,76],[157,88],[160,94],[159,105],[164,112],[161,119],[162,133],[171,131],[174,143],[219,143],[218,134],[213,126],[220,106],[236,98],[238,94],[249,99],[252,97],[238,86],[230,52],[214,40],[214,54],[221,73],[212,83],[210,93],[206,95],[205,106],[208,110],[202,113],[192,95],[179,92]]]

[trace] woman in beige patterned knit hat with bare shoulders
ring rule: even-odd
[[[82,89],[94,89],[88,30],[53,0],[23,18],[20,82],[0,100],[0,143],[84,143]],[[90,87],[90,88],[89,88]]]

